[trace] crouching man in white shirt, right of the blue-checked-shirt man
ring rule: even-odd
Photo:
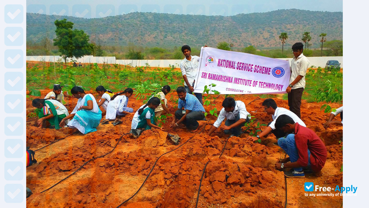
[[[218,119],[210,127],[207,135],[213,133],[226,118],[224,126],[221,127],[225,134],[232,134],[233,136],[239,136],[242,131],[241,127],[244,126],[251,118],[251,115],[247,112],[245,103],[241,100],[235,101],[233,98],[225,98],[222,103],[223,108],[220,110]]]

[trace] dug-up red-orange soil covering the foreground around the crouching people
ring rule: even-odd
[[[49,90],[43,90],[42,96]],[[93,92],[97,97],[97,94]],[[175,93],[170,93],[167,98]],[[223,96],[215,102],[221,109]],[[272,120],[263,112],[261,103],[253,95],[236,96],[246,104],[248,112],[267,124]],[[69,98],[68,109],[74,108],[76,99]],[[287,100],[275,98],[277,105],[288,109]],[[135,110],[142,100],[131,98],[128,105]],[[172,101],[169,100],[172,104]],[[306,175],[306,178],[287,179],[288,205],[297,207],[340,207],[342,197],[305,196],[304,183],[313,182],[325,187],[342,186],[342,127],[331,126],[325,131],[323,123],[327,115],[320,111],[320,103],[301,105],[302,120],[325,142],[328,159],[318,175]],[[338,108],[339,104],[332,104]],[[27,101],[27,114],[33,112],[31,101]],[[172,113],[174,109],[172,108]],[[255,111],[253,113],[251,111]],[[103,111],[104,112],[104,111]],[[175,149],[166,139],[166,132],[148,130],[138,139],[125,135],[116,149],[103,158],[86,164],[75,175],[58,184],[49,191],[40,193],[77,170],[87,160],[101,156],[113,149],[121,135],[131,128],[132,115],[123,118],[121,125],[100,125],[97,132],[86,135],[73,134],[62,141],[37,151],[37,164],[27,168],[27,187],[33,195],[27,198],[27,207],[116,207],[133,195],[145,180],[156,159],[163,153]],[[209,117],[210,118],[210,117]],[[209,119],[208,118],[208,119]],[[54,140],[71,133],[62,130],[38,129],[32,124],[35,118],[28,118],[27,146],[38,149]],[[164,155],[156,163],[154,170],[138,194],[123,207],[195,207],[200,177],[207,161],[210,160],[201,185],[198,207],[284,207],[284,177],[274,164],[283,157],[279,147],[273,146],[275,137],[269,135],[262,144],[246,141],[244,137],[231,137],[223,156],[226,135],[218,129],[213,136],[206,136],[210,124],[200,121],[199,134],[184,129],[169,127],[172,117],[167,119],[164,128],[168,133],[179,134],[180,144],[190,137],[179,149]],[[332,192],[334,193],[334,192]]]

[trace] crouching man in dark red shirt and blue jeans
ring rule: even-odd
[[[323,141],[313,130],[295,123],[287,115],[280,115],[276,119],[277,129],[288,133],[287,137],[280,138],[278,145],[289,157],[275,164],[277,170],[292,168],[284,171],[287,178],[304,178],[305,173],[319,172],[327,160],[327,149]],[[287,163],[290,161],[291,163]]]

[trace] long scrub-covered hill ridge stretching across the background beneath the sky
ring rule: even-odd
[[[342,40],[342,12],[307,10],[276,10],[266,13],[236,16],[179,15],[162,13],[128,13],[104,18],[35,15],[27,13],[27,41],[38,42],[42,37],[55,38],[56,18],[72,21],[73,28],[82,29],[90,40],[101,45],[143,47],[216,46],[218,42],[233,43],[236,48],[254,45],[258,48],[281,47],[279,35],[286,32],[286,46],[301,41],[302,34],[311,32],[310,44],[318,47],[320,33],[327,41]]]

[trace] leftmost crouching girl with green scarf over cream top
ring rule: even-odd
[[[58,100],[53,99],[34,99],[32,100],[32,106],[38,109],[42,109],[41,112],[38,113],[39,119],[37,120],[37,124],[39,128],[42,128],[45,120],[47,120],[51,127],[55,129],[60,129],[59,123],[63,118],[68,116],[68,110],[60,103]],[[68,123],[69,120],[66,120],[65,123]]]

